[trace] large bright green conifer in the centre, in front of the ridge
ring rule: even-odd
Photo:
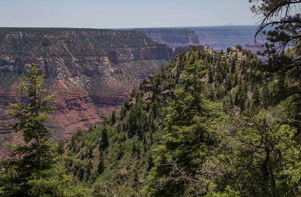
[[[165,130],[162,145],[154,152],[155,167],[152,176],[169,177],[154,196],[182,196],[187,187],[187,179],[177,179],[179,171],[172,171],[171,162],[184,167],[188,174],[197,171],[195,161],[209,153],[213,140],[207,133],[207,121],[220,114],[220,105],[206,99],[204,81],[205,65],[198,54],[192,53],[182,73],[185,74],[183,86],[177,88],[175,101],[165,108]],[[164,179],[164,178],[163,178]],[[160,181],[160,180],[159,180]],[[160,184],[156,182],[155,184]]]

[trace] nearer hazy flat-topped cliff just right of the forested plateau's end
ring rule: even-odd
[[[176,49],[178,46],[201,45],[205,46],[199,40],[193,29],[175,29],[175,28],[137,28],[137,31],[145,33],[150,39],[165,43]]]

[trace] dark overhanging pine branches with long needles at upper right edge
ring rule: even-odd
[[[266,42],[261,45],[262,50],[259,54],[269,57],[264,66],[258,64],[257,67],[263,71],[263,78],[268,79],[269,83],[273,83],[275,79],[281,79],[285,84],[285,88],[273,92],[273,104],[293,97],[294,103],[299,105],[301,100],[301,80],[299,80],[301,14],[295,7],[299,7],[300,2],[298,0],[249,1],[256,2],[251,10],[262,16],[255,37],[263,34]]]

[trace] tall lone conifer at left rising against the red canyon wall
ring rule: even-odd
[[[31,175],[49,170],[57,163],[57,148],[49,142],[51,133],[45,126],[46,119],[51,117],[48,112],[54,110],[48,102],[55,98],[55,94],[44,96],[45,72],[38,75],[41,67],[34,63],[34,58],[31,67],[27,69],[28,75],[23,74],[18,85],[19,90],[29,99],[29,104],[10,103],[12,109],[8,111],[11,117],[18,119],[9,126],[22,136],[24,144],[6,144],[13,155],[1,161],[4,170],[0,172],[0,191],[5,196],[28,196]]]

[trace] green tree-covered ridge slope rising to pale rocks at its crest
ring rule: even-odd
[[[236,169],[239,162],[251,162],[252,156],[260,155],[258,162],[250,165],[262,167],[260,159],[267,144],[278,146],[277,151],[282,155],[288,153],[288,148],[296,148],[291,153],[297,156],[298,146],[293,142],[296,130],[288,125],[278,128],[280,117],[274,117],[272,111],[279,106],[270,106],[271,93],[268,92],[272,87],[266,87],[264,81],[258,82],[262,75],[258,65],[263,62],[240,46],[230,48],[226,54],[208,53],[206,49],[194,47],[174,57],[160,73],[146,78],[140,90],[133,90],[119,114],[113,113],[96,128],[91,126],[87,133],[79,131],[67,143],[67,155],[76,160],[73,164],[76,179],[92,188],[106,185],[103,193],[110,190],[118,193],[125,186],[131,190],[126,191],[128,196],[211,196],[221,191],[231,193],[233,188],[242,189],[235,181],[244,179]],[[270,112],[261,110],[263,107]],[[253,117],[258,112],[259,115]],[[260,122],[260,118],[267,122]],[[245,122],[250,125],[244,125]],[[272,131],[256,132],[266,126]],[[234,130],[242,141],[234,135]],[[285,139],[287,143],[270,141],[270,137],[276,137],[276,141]],[[248,144],[251,139],[259,140],[256,141],[258,148]],[[246,157],[238,162],[236,154]],[[269,154],[270,158],[275,156],[272,163],[279,162],[277,155]],[[232,160],[222,160],[223,156]],[[229,162],[235,167],[221,175],[219,171],[227,169]],[[274,167],[272,163],[268,163],[268,167]],[[212,176],[208,174],[208,165],[212,167]],[[298,163],[291,160],[289,166],[296,167]],[[260,178],[264,178],[249,167],[240,170],[246,170],[255,179],[257,174],[258,184],[261,184]],[[201,180],[201,177],[206,178]],[[234,180],[231,189],[227,182],[230,177]],[[266,178],[270,184],[270,176]],[[258,190],[255,193],[267,192],[255,184],[243,192],[252,193],[250,190],[254,188]]]

